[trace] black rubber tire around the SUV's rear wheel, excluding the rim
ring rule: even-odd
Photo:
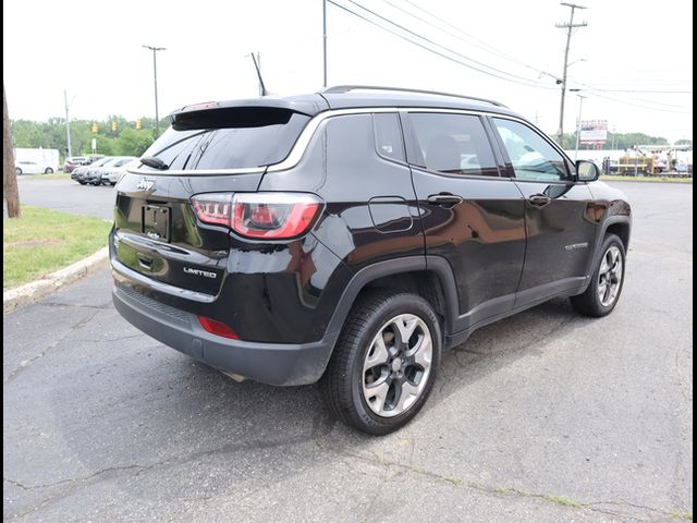
[[[400,414],[386,417],[368,406],[364,394],[364,379],[367,376],[364,375],[364,364],[374,339],[379,332],[384,332],[386,325],[390,325],[400,315],[416,316],[426,326],[432,343],[431,362],[428,373],[420,378],[427,380],[420,396]],[[409,341],[411,339],[407,340],[407,345]],[[372,291],[360,296],[351,309],[327,370],[319,381],[319,390],[329,410],[340,421],[367,434],[389,434],[408,423],[421,409],[433,387],[440,360],[441,329],[429,303],[418,295],[405,292]],[[389,373],[391,367],[388,364],[384,368]],[[407,369],[408,367],[404,369],[402,376],[407,375]],[[420,387],[420,380],[418,386]],[[400,386],[400,391],[404,389]]]

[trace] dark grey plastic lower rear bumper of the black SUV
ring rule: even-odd
[[[156,340],[211,367],[276,386],[308,385],[325,372],[332,343],[257,343],[229,340],[204,330],[195,315],[114,284],[117,311]]]

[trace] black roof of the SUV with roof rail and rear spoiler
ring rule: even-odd
[[[371,107],[425,107],[435,109],[461,109],[517,115],[493,100],[449,93],[371,86],[338,86],[319,93],[299,96],[264,96],[237,100],[211,101],[186,106],[170,113],[172,121],[184,114],[229,108],[284,109],[314,117],[330,109]]]

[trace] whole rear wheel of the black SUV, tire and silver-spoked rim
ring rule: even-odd
[[[377,291],[353,306],[319,382],[330,411],[372,435],[408,423],[431,391],[441,331],[423,297]]]

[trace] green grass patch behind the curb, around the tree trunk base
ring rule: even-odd
[[[107,245],[111,224],[99,218],[22,206],[22,218],[3,219],[2,289],[66,267]]]

